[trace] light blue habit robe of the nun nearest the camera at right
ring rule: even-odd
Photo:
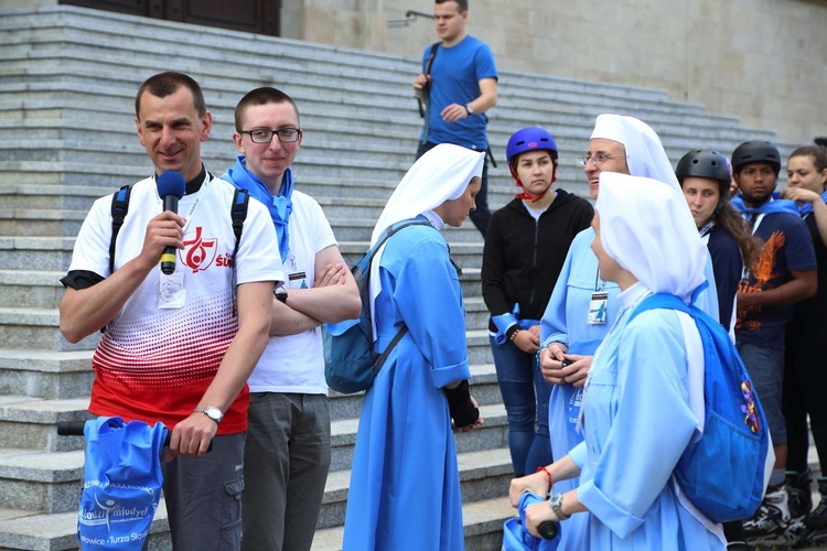
[[[640,290],[621,300],[635,300]],[[588,518],[583,549],[724,549],[678,501],[672,477],[698,422],[688,403],[678,315],[653,310],[627,325],[627,312],[592,363],[583,399],[586,440],[571,452],[582,467],[578,498],[589,509],[578,514]]]

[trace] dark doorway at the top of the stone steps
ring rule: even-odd
[[[280,0],[60,0],[60,3],[279,35]]]

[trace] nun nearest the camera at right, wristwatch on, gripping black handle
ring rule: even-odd
[[[697,328],[686,314],[666,310],[627,322],[649,294],[689,302],[705,281],[708,255],[685,203],[676,190],[646,177],[600,175],[592,250],[601,274],[620,287],[620,312],[587,378],[584,441],[543,476],[515,479],[509,495],[512,504],[526,490],[541,495],[535,486],[547,487],[547,474],[554,480],[580,476],[577,488],[526,509],[534,534],[544,520],[561,521],[563,530],[570,516],[584,520],[578,547],[561,549],[726,548],[720,525],[698,511],[673,477],[702,431]]]

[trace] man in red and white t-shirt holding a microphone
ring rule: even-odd
[[[147,79],[135,121],[155,174],[131,187],[114,271],[112,197],[94,204],[62,280],[61,331],[77,343],[105,327],[92,360],[92,413],[171,430],[162,471],[173,547],[238,549],[246,381],[267,345],[282,264],[267,210],[254,201],[234,258],[235,190],[202,164],[212,116],[195,80]],[[155,179],[168,171],[186,183],[181,215],[162,209]],[[168,247],[178,249],[169,276],[159,269]]]

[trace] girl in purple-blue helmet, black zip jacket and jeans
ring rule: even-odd
[[[506,160],[519,193],[492,215],[483,251],[482,285],[491,312],[490,339],[508,419],[516,476],[551,461],[548,399],[536,353],[539,320],[569,245],[589,227],[591,204],[557,179],[557,144],[541,128],[524,128],[508,140]]]

